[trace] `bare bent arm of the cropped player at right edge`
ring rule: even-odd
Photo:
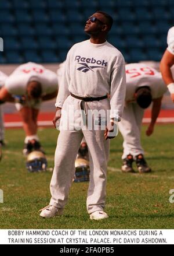
[[[165,84],[168,86],[171,93],[172,100],[174,101],[174,79],[171,72],[171,67],[174,64],[174,55],[166,50],[160,62],[160,71]]]

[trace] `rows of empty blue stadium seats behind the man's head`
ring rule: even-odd
[[[86,18],[114,18],[108,41],[126,62],[160,61],[174,21],[174,0],[0,0],[0,64],[63,62],[71,45],[88,38]]]

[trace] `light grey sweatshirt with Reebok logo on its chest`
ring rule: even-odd
[[[61,108],[70,93],[82,97],[110,94],[111,117],[115,110],[121,117],[125,91],[125,61],[121,52],[107,41],[93,44],[86,40],[68,51],[55,106]]]

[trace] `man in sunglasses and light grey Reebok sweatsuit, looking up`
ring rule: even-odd
[[[55,126],[60,116],[60,127],[64,123],[65,113],[70,110],[69,106],[74,108],[74,126],[77,122],[76,110],[84,110],[85,121],[93,110],[103,110],[104,114],[110,111],[110,118],[107,124],[106,115],[105,120],[103,115],[92,120],[99,125],[97,130],[93,127],[88,129],[85,125],[85,128],[81,129],[60,129],[55,152],[55,169],[50,182],[52,198],[49,206],[42,209],[40,214],[44,218],[63,214],[83,136],[88,144],[90,162],[87,210],[90,219],[108,218],[104,206],[109,139],[115,137],[115,122],[121,120],[126,89],[124,58],[117,48],[106,41],[112,24],[113,18],[110,15],[102,11],[95,12],[87,19],[84,29],[90,40],[75,44],[67,54],[63,80],[57,95]],[[102,124],[104,129],[100,128]]]

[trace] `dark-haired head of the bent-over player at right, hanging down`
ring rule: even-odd
[[[152,101],[151,90],[148,86],[138,87],[136,90],[136,102],[141,108],[147,108]]]

